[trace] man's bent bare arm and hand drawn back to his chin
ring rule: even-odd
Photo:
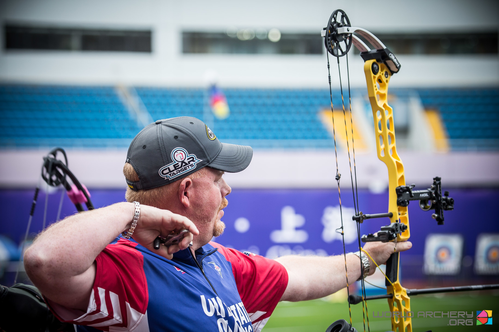
[[[86,311],[95,280],[95,258],[121,232],[128,230],[135,204],[122,202],[74,214],[43,231],[26,249],[24,267],[40,292],[67,308]],[[178,245],[153,249],[154,239],[172,231],[189,230]],[[141,245],[171,259],[188,247],[199,234],[188,218],[152,206],[141,205],[140,218],[132,237]]]

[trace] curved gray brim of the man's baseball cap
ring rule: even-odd
[[[219,155],[207,166],[229,173],[240,172],[250,165],[253,149],[245,145],[222,143]]]

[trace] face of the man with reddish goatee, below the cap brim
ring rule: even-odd
[[[231,187],[222,178],[223,171],[210,167],[206,169],[204,176],[192,180],[191,213],[188,216],[199,229],[200,233],[195,240],[200,246],[224,232],[222,209],[228,204],[225,196],[231,193]]]

